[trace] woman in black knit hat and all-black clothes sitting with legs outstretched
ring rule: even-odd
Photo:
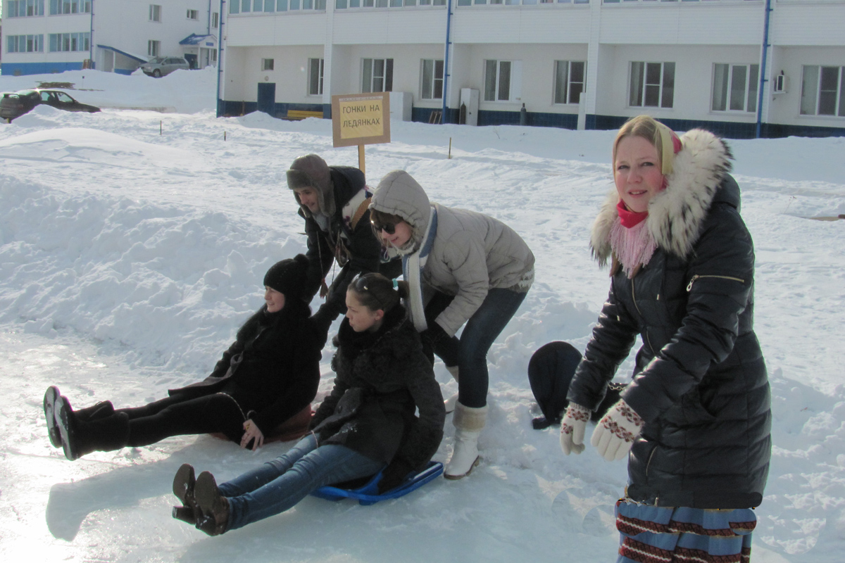
[[[185,434],[219,432],[253,450],[271,434],[302,436],[319,386],[323,344],[301,299],[307,271],[302,254],[270,268],[266,304],[238,330],[211,375],[167,398],[117,410],[106,401],[74,412],[68,398],[49,387],[44,414],[52,445],[74,460]]]

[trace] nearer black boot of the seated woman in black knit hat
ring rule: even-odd
[[[79,420],[66,397],[55,404],[64,457],[73,461],[90,452],[111,452],[126,447],[129,440],[129,415],[112,413],[94,420]]]

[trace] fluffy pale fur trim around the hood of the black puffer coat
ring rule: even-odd
[[[709,131],[692,129],[681,136],[684,149],[675,154],[668,185],[648,204],[646,226],[657,247],[679,257],[688,257],[733,159],[728,145]],[[592,256],[599,266],[611,257],[610,230],[619,220],[619,193],[613,187],[602,204],[590,233]]]

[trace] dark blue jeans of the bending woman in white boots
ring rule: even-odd
[[[439,299],[432,300],[432,304],[439,301],[442,305],[445,295],[438,295]],[[512,290],[489,290],[481,306],[470,317],[461,333],[461,338],[444,338],[434,344],[434,354],[438,355],[446,365],[458,366],[458,401],[465,407],[479,408],[487,404],[487,389],[489,375],[487,371],[487,353],[493,341],[499,338],[511,317],[525,300],[525,292]],[[443,311],[426,310],[428,322]],[[435,313],[436,314],[433,314]],[[429,320],[429,313],[432,317]]]

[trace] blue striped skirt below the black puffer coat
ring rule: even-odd
[[[617,563],[749,563],[750,508],[706,510],[616,503]]]

